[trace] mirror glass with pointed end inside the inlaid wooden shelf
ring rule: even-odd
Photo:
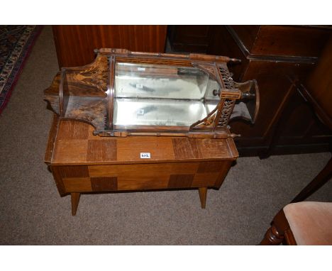
[[[117,62],[114,125],[191,126],[215,109],[219,90],[197,67]]]

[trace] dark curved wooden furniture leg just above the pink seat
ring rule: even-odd
[[[304,189],[299,192],[297,197],[294,197],[291,203],[304,201],[307,197],[311,196],[314,192],[316,192],[319,188],[321,188],[329,179],[332,177],[332,158],[328,161],[326,166],[319,172],[309,184],[304,187]]]

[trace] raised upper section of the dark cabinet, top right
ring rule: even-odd
[[[329,29],[314,26],[226,26],[241,49],[251,56],[318,57]],[[299,61],[301,62],[301,61]]]

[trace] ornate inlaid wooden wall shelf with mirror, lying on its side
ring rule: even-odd
[[[95,136],[228,138],[229,121],[254,123],[259,109],[258,84],[234,82],[228,62],[238,60],[102,48],[90,65],[63,67],[45,100]]]

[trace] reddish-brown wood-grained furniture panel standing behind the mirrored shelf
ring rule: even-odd
[[[94,60],[94,49],[126,48],[164,52],[167,26],[53,26],[59,67]]]

